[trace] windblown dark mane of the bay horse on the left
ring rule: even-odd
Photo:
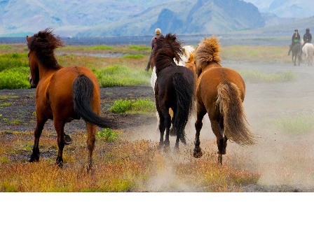
[[[34,50],[39,62],[46,68],[59,69],[60,65],[55,59],[54,51],[64,45],[60,38],[53,34],[51,28],[39,31],[37,34],[29,37],[27,47],[29,51]]]

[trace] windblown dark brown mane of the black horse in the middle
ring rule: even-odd
[[[156,48],[153,52],[153,58],[157,71],[162,71],[169,66],[176,66],[174,59],[179,63],[184,50],[181,43],[177,41],[176,34],[161,35],[156,40]]]

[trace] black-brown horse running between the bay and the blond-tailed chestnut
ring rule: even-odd
[[[161,131],[160,147],[168,148],[169,135],[177,136],[175,148],[179,141],[186,143],[185,127],[193,105],[193,73],[184,66],[177,66],[183,49],[175,34],[167,34],[156,40],[157,47],[153,55],[156,62],[155,98]],[[171,120],[169,108],[174,116]],[[172,129],[170,131],[170,126]],[[166,134],[165,134],[166,131]],[[163,136],[165,134],[165,141]]]

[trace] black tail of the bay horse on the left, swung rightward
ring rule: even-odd
[[[92,108],[91,102],[94,96],[94,83],[90,78],[81,74],[73,83],[74,111],[86,122],[102,128],[115,128],[116,124],[108,118],[97,115]]]

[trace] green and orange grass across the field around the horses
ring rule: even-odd
[[[102,58],[75,55],[81,51],[125,53],[128,56]],[[231,46],[223,47],[221,51],[222,59],[282,63],[290,60],[286,47]],[[0,59],[12,55],[12,60],[6,60],[7,65],[0,72],[1,83],[6,85],[1,89],[15,89],[13,84],[19,84],[15,78],[28,86],[29,70],[25,52],[25,45],[0,45]],[[13,56],[13,53],[17,55]],[[144,67],[150,48],[145,46],[115,48],[69,45],[58,49],[57,53],[64,54],[56,55],[62,66],[86,66],[95,72],[104,87],[149,85],[151,71],[145,72]],[[22,65],[18,64],[20,62]],[[265,73],[243,71],[243,76],[252,83],[280,82],[287,77],[288,80],[296,79],[292,72],[270,78]],[[113,112],[151,112],[150,101],[134,101],[131,104],[122,101],[117,101]],[[1,108],[6,106],[11,106],[11,103],[6,101]],[[280,123],[285,124],[286,120]],[[215,141],[203,140],[202,145],[207,147],[204,148],[203,158],[194,159],[192,153],[184,148],[179,153],[163,152],[158,150],[157,142],[142,139],[130,141],[125,136],[123,130],[98,131],[93,155],[94,168],[87,172],[86,133],[78,132],[72,136],[75,141],[64,149],[64,168],[60,169],[55,166],[55,132],[44,130],[40,142],[41,152],[50,152],[53,157],[41,157],[38,164],[29,164],[26,157],[21,159],[15,156],[31,154],[33,131],[8,133],[4,129],[0,133],[0,192],[242,192],[242,185],[255,184],[260,177],[258,172],[231,166],[227,158],[224,159],[224,166],[218,166]],[[193,145],[189,145],[188,149],[193,149]]]

